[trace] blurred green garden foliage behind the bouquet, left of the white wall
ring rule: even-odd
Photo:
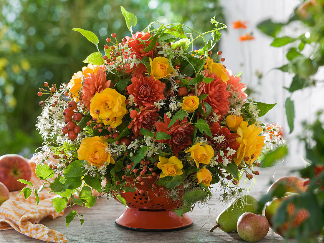
[[[137,16],[134,31],[153,21],[181,22],[199,32],[211,28],[211,17],[225,22],[217,0],[0,0],[0,155],[30,157],[41,146],[39,88],[69,82],[95,51],[72,28],[93,31],[101,46],[111,33],[121,40],[130,35],[121,5]]]

